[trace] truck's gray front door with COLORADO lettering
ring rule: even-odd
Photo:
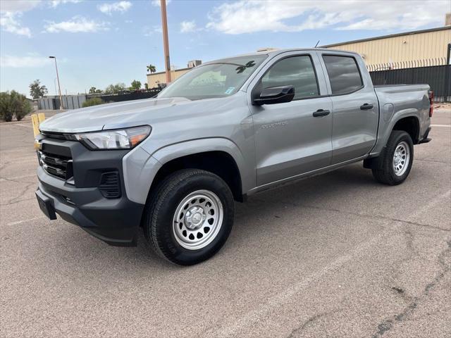
[[[257,185],[283,180],[330,165],[332,104],[316,51],[276,56],[253,82],[261,88],[295,87],[295,99],[283,104],[251,106],[254,122]],[[316,111],[325,113],[316,114]]]

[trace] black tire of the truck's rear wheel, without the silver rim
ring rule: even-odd
[[[404,173],[402,175],[397,175],[395,173],[395,168],[393,166],[393,156],[395,154],[395,150],[397,146],[402,144],[407,144],[409,148],[409,163],[407,163],[407,168],[405,168]],[[388,185],[397,185],[404,182],[404,180],[409,176],[410,169],[412,168],[412,163],[414,161],[414,143],[412,142],[412,138],[407,132],[402,130],[393,130],[388,138],[387,145],[385,146],[384,151],[381,156],[373,161],[373,167],[371,170],[373,171],[373,177],[376,181],[381,182],[383,184]]]

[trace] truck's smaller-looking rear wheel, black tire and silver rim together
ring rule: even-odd
[[[373,176],[381,183],[396,185],[404,182],[414,161],[414,144],[407,132],[393,130],[383,154],[373,163]]]

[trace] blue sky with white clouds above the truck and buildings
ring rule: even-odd
[[[444,25],[451,0],[169,0],[171,64],[311,47]],[[159,0],[0,0],[0,91],[30,96],[39,79],[56,94],[146,82],[164,70]]]

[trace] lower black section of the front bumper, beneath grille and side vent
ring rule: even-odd
[[[107,199],[97,187],[78,188],[37,169],[36,195],[49,206],[51,215],[80,226],[94,237],[114,246],[135,246],[144,205],[130,201],[125,194]],[[44,212],[45,213],[45,212]]]

